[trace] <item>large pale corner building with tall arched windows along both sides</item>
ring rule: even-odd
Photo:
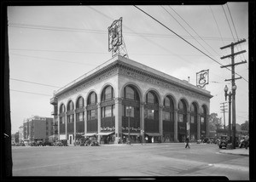
[[[59,139],[69,144],[94,134],[101,144],[125,141],[129,130],[131,143],[183,142],[208,136],[211,98],[205,89],[117,55],[57,90],[50,104]]]

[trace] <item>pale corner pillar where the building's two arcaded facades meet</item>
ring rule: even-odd
[[[115,128],[115,139],[114,143],[118,144],[118,137],[122,139],[122,99],[116,98],[114,100],[114,128]]]

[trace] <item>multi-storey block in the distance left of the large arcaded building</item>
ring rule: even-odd
[[[46,141],[53,134],[53,118],[31,117],[23,122],[24,141],[32,142],[37,140]]]

